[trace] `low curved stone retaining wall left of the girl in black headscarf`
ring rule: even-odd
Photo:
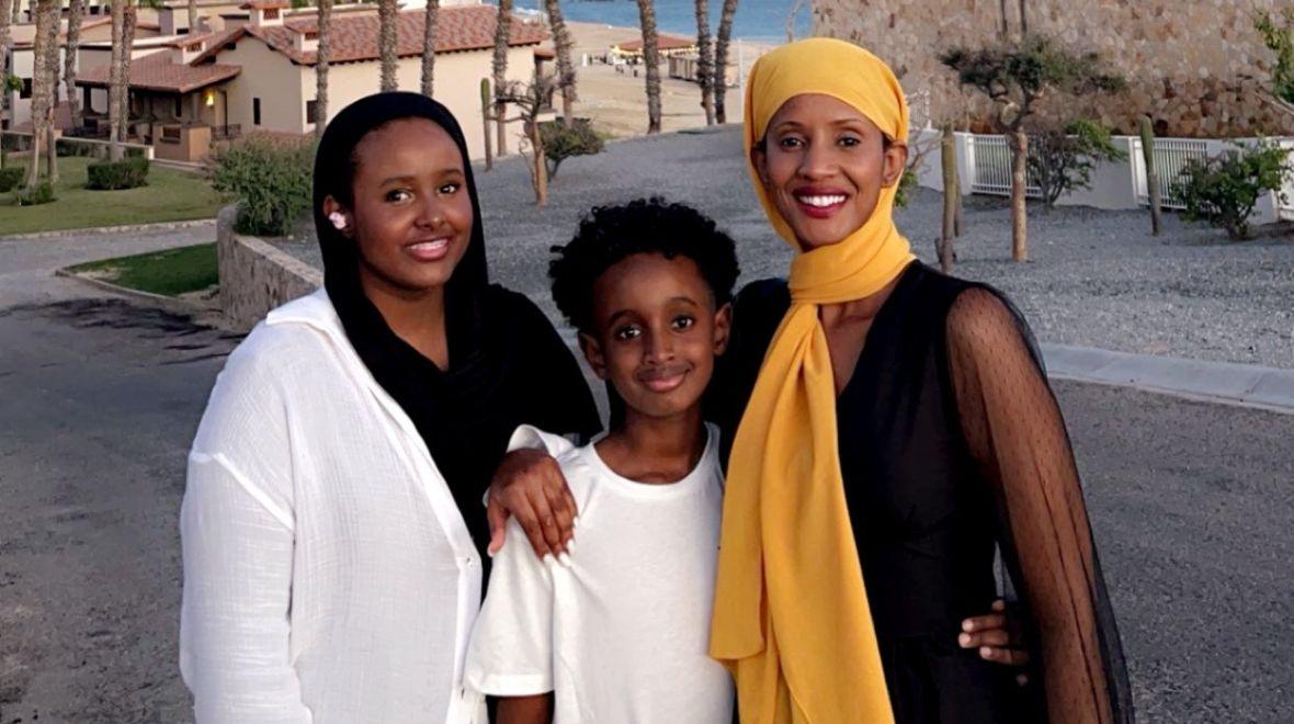
[[[322,286],[324,273],[264,240],[236,233],[237,216],[233,206],[216,216],[220,308],[232,326],[247,330],[274,307]]]

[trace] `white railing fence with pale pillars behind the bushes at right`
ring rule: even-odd
[[[974,133],[955,133],[958,175],[961,193],[991,196],[1011,194],[1011,149],[1004,136]],[[938,142],[938,131],[925,128],[914,131],[920,142]],[[1057,199],[1061,206],[1095,206],[1097,209],[1136,209],[1149,205],[1149,189],[1145,179],[1145,161],[1141,155],[1139,136],[1114,136],[1114,146],[1127,154],[1126,161],[1099,163],[1092,172],[1092,188],[1075,190]],[[1254,142],[1254,139],[1237,139],[1241,144]],[[1294,150],[1294,137],[1276,139],[1281,146]],[[1156,139],[1154,166],[1159,175],[1159,198],[1165,209],[1184,209],[1172,193],[1178,176],[1193,159],[1207,159],[1234,148],[1231,141],[1214,139]],[[1271,193],[1259,199],[1254,210],[1254,224],[1268,224],[1276,220],[1294,221],[1294,153],[1290,154],[1291,174],[1286,177],[1284,194]],[[943,180],[939,172],[938,153],[925,158],[917,179],[923,187],[941,189]],[[1030,177],[1025,187],[1030,198],[1040,198],[1042,193]],[[1284,198],[1282,198],[1284,197]]]

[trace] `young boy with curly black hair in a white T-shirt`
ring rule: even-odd
[[[701,394],[731,325],[732,240],[652,198],[594,209],[555,251],[553,297],[624,420],[558,456],[578,549],[540,561],[510,522],[465,680],[502,697],[499,724],[730,724],[731,679],[707,655],[723,479]]]

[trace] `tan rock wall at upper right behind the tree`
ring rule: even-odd
[[[1082,114],[1135,132],[1149,114],[1159,136],[1246,137],[1294,135],[1294,115],[1271,107],[1258,89],[1275,56],[1253,26],[1253,10],[1278,10],[1290,0],[813,0],[814,34],[853,40],[898,74],[920,117],[986,131],[990,104],[938,54],[954,45],[982,47],[1021,28],[1080,52],[1097,52],[1123,74],[1114,96],[1048,98],[1042,122]],[[928,101],[923,97],[928,95]]]

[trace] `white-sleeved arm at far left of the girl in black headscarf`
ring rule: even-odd
[[[180,510],[180,671],[199,724],[311,721],[290,650],[290,443],[255,357],[234,352],[216,382]]]

